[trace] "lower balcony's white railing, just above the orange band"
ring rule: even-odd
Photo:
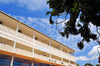
[[[0,50],[7,51],[7,52],[12,52],[13,53],[13,46],[0,43]],[[23,49],[20,49],[20,48],[15,48],[15,53],[16,54],[19,54],[19,55],[33,57],[33,53],[32,52],[27,51],[27,50],[23,50]],[[52,61],[49,61],[50,60],[50,57],[43,56],[43,55],[36,54],[36,53],[34,53],[34,58],[40,59],[40,60],[44,60],[44,61],[48,61],[48,62],[52,62],[52,63],[61,64],[61,61],[60,60],[51,58]],[[64,62],[63,65],[66,65],[66,64],[68,64],[68,63],[67,62]]]

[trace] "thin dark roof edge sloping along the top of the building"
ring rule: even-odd
[[[36,32],[39,32],[40,34],[42,34],[42,35],[44,35],[44,36],[48,37],[49,39],[51,39],[51,40],[53,40],[53,41],[55,41],[55,42],[57,42],[57,43],[59,43],[59,44],[61,44],[61,45],[65,46],[65,47],[67,47],[66,45],[64,45],[64,44],[62,44],[62,43],[60,43],[60,42],[58,42],[58,41],[56,41],[56,40],[54,40],[54,39],[50,38],[49,36],[47,36],[47,35],[45,35],[45,34],[41,33],[40,31],[38,31],[38,30],[36,30],[36,29],[34,29],[34,28],[30,27],[29,25],[27,25],[27,24],[25,24],[25,23],[23,23],[23,22],[21,22],[21,21],[19,21],[19,20],[15,19],[14,17],[9,16],[8,14],[6,14],[6,13],[4,13],[4,12],[2,12],[2,11],[0,11],[0,12],[1,12],[2,14],[4,14],[4,15],[6,15],[6,16],[8,16],[8,17],[12,18],[12,19],[14,19],[15,21],[20,22],[20,23],[22,23],[23,25],[25,25],[25,26],[27,26],[27,27],[29,27],[29,28],[31,28],[31,29],[33,29],[33,30],[35,30]],[[67,48],[69,48],[69,47],[67,47]],[[71,49],[71,48],[69,48],[69,49]],[[73,50],[73,49],[71,49],[71,50]],[[73,51],[75,52],[75,50],[73,50]]]

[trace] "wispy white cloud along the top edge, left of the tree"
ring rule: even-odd
[[[14,3],[17,6],[25,7],[28,10],[44,10],[49,8],[47,5],[47,0],[0,0],[1,4]]]

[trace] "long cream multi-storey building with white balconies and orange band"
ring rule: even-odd
[[[74,52],[0,11],[0,66],[76,66]]]

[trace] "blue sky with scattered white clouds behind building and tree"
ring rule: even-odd
[[[0,0],[0,10],[74,49],[76,51],[76,62],[79,63],[80,66],[90,62],[92,64],[98,63],[98,44],[95,41],[91,40],[90,43],[84,42],[84,49],[79,50],[77,48],[77,42],[82,39],[80,35],[70,35],[69,39],[67,39],[57,32],[55,24],[49,24],[49,15],[45,15],[47,11],[50,11],[46,0]],[[63,17],[60,17],[59,21],[63,19]],[[67,17],[67,20],[68,19],[69,16]],[[54,18],[54,20],[56,19]],[[63,25],[64,24],[58,25],[58,28],[63,27]],[[92,24],[90,29],[96,33],[95,26]]]

